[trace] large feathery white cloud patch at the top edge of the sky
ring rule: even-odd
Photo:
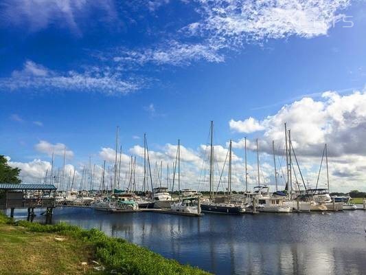
[[[203,19],[195,23],[195,32],[200,28],[211,40],[229,46],[290,35],[310,38],[327,34],[342,17],[339,10],[350,5],[348,0],[199,2]]]

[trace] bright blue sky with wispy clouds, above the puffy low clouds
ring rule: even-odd
[[[118,125],[127,155],[142,145],[137,137],[145,132],[152,150],[164,152],[165,144],[180,138],[199,155],[210,120],[215,122],[216,143],[224,147],[230,138],[239,142],[244,136],[265,142],[273,129],[264,120],[279,115],[286,104],[293,106],[303,98],[327,102],[321,96],[325,91],[341,98],[355,91],[363,94],[363,1],[233,5],[236,8],[225,1],[3,1],[1,154],[24,167],[34,159],[49,162],[47,150],[60,143],[72,151],[70,164],[80,166],[90,155],[100,164],[101,148],[113,148]],[[249,117],[252,124],[261,124],[259,131],[247,123]],[[362,128],[363,113],[357,118]],[[302,128],[300,122],[291,127]],[[356,137],[360,133],[356,131]],[[36,146],[41,141],[49,143],[48,149]],[[336,141],[322,137],[304,142],[323,146]],[[262,148],[266,153],[266,144]],[[242,157],[240,145],[236,150]],[[339,156],[352,158],[352,150],[345,148]],[[347,170],[337,169],[334,177]],[[352,176],[361,184],[360,177]]]

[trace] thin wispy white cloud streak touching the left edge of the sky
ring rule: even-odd
[[[144,80],[123,80],[122,75],[110,67],[91,67],[79,73],[54,72],[43,65],[26,61],[21,71],[14,71],[10,78],[0,78],[1,89],[32,89],[37,91],[89,91],[108,95],[126,95],[144,86]]]

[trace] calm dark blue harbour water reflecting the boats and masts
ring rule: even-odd
[[[197,218],[58,208],[53,221],[98,228],[214,274],[366,274],[365,211]]]

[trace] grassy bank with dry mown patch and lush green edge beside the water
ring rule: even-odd
[[[99,230],[14,223],[1,213],[0,253],[0,274],[101,274],[92,260],[106,268],[103,274],[208,274]]]

